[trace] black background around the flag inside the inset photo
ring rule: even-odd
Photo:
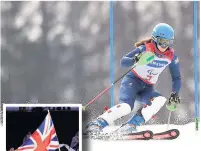
[[[79,111],[50,111],[60,144],[70,146],[79,131]],[[22,145],[28,132],[33,133],[43,122],[47,111],[6,112],[6,149]]]

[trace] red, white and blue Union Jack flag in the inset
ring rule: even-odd
[[[59,148],[54,124],[48,111],[39,128],[17,149],[17,151],[54,151]]]

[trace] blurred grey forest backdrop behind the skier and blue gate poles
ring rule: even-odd
[[[86,105],[110,83],[109,19],[109,2],[1,1],[1,101]],[[195,113],[192,1],[114,2],[115,79],[128,70],[120,67],[123,55],[159,22],[175,29],[174,49],[181,64],[182,103],[170,123],[186,124]],[[155,86],[170,96],[168,69]],[[115,85],[115,103],[119,87]],[[84,122],[100,115],[105,105],[110,105],[109,92],[87,108]],[[167,116],[163,107],[147,124],[167,123]]]

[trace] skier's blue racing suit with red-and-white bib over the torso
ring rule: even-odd
[[[160,53],[155,43],[141,45],[121,59],[121,67],[133,66],[134,56],[145,51],[154,52],[154,60],[147,65],[137,66],[121,82],[120,102],[129,104],[131,109],[134,107],[136,97],[140,98],[142,104],[151,105],[150,100],[161,95],[153,86],[167,66],[172,77],[172,92],[179,93],[181,88],[179,59],[173,49]]]

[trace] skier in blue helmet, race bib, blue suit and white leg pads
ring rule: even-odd
[[[173,28],[166,23],[159,23],[154,27],[151,38],[135,43],[136,48],[121,59],[122,67],[133,66],[141,54],[147,51],[154,53],[154,60],[147,65],[135,67],[123,78],[120,86],[120,103],[90,122],[86,133],[100,132],[106,126],[112,125],[115,120],[131,113],[138,97],[143,107],[140,107],[118,130],[123,134],[136,132],[136,127],[150,120],[166,102],[166,98],[154,90],[153,86],[167,66],[172,77],[172,93],[168,104],[180,103],[181,75],[179,59],[172,48],[173,41]]]

